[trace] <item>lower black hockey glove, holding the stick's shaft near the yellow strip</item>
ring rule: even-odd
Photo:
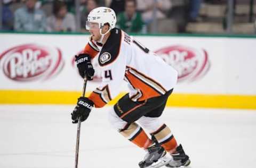
[[[89,116],[92,107],[93,107],[93,102],[87,97],[79,97],[77,101],[77,105],[71,113],[71,119],[73,120],[72,123],[77,123],[78,122],[78,117],[81,117],[81,122],[85,121],[87,117]]]

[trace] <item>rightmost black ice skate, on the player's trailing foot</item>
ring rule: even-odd
[[[176,148],[176,153],[171,154],[171,156],[173,160],[166,164],[166,167],[184,167],[190,164],[189,157],[185,154],[181,144]]]

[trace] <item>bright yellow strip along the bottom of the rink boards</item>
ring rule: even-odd
[[[86,93],[89,95],[90,93]],[[125,93],[109,104],[113,105]],[[0,90],[0,104],[75,104],[79,91]],[[256,110],[256,95],[172,94],[167,106]]]

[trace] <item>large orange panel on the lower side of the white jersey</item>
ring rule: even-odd
[[[125,74],[125,77],[129,80],[134,88],[141,90],[142,96],[138,99],[139,101],[149,99],[151,97],[161,96],[155,89],[147,85],[145,82],[141,81],[139,78],[135,77],[129,71]]]

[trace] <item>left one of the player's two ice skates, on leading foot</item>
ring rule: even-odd
[[[154,145],[146,149],[147,154],[143,161],[139,163],[140,168],[158,168],[170,162],[172,158],[166,157],[164,148],[160,145]]]

